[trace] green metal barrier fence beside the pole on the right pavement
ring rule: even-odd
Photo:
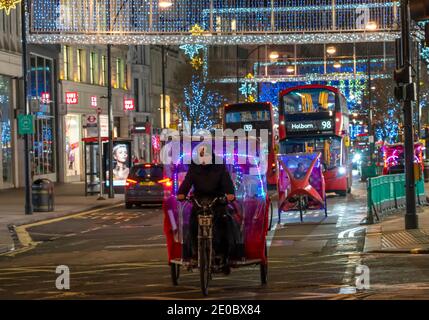
[[[419,205],[427,204],[423,179],[416,183],[416,196]],[[405,174],[368,178],[367,198],[369,223],[374,216],[380,221],[380,215],[405,207]]]

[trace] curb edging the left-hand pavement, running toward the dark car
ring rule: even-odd
[[[20,240],[20,236],[18,235],[17,228],[21,228],[25,231],[27,228],[26,226],[29,227],[35,223],[43,223],[43,222],[49,223],[50,220],[55,220],[55,219],[60,219],[60,218],[67,219],[67,217],[71,217],[71,216],[74,216],[77,214],[85,214],[86,212],[93,211],[93,210],[100,210],[100,209],[104,209],[104,208],[119,206],[119,204],[121,202],[123,202],[122,199],[118,200],[118,201],[114,201],[114,202],[109,203],[109,204],[96,204],[93,206],[88,206],[88,207],[83,208],[83,209],[77,209],[77,210],[73,210],[73,211],[67,211],[64,213],[59,213],[58,215],[55,215],[52,217],[45,217],[45,218],[41,217],[40,219],[35,218],[33,220],[30,220],[30,221],[27,221],[24,223],[20,223],[20,224],[13,224],[13,223],[8,224],[8,225],[6,225],[6,228],[10,232],[10,236],[12,238],[13,244],[9,245],[9,246],[0,247],[0,255],[12,253],[12,252],[22,250],[24,248],[31,246],[31,244],[25,245],[22,243],[22,241]],[[30,242],[31,242],[31,237],[29,235],[28,235],[28,237],[29,237]]]

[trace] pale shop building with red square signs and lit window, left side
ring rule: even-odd
[[[113,137],[129,138],[130,114],[124,111],[124,100],[132,98],[131,67],[128,47],[112,47]],[[101,108],[101,128],[107,123],[107,48],[102,46],[61,47],[59,57],[58,101],[60,114],[61,181],[83,181],[85,177],[86,119]],[[75,100],[70,99],[75,97]],[[108,132],[102,134],[107,136]]]

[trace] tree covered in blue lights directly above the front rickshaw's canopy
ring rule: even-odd
[[[224,98],[206,88],[204,81],[197,75],[192,76],[189,86],[183,89],[184,103],[178,108],[183,122],[192,124],[192,132],[210,130],[217,123],[216,114]]]

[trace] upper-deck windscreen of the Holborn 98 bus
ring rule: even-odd
[[[291,91],[282,103],[285,114],[335,111],[335,93],[326,89]]]

